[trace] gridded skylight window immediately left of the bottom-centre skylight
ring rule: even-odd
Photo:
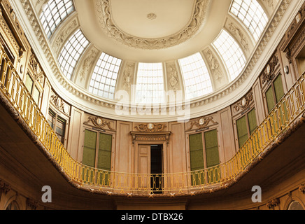
[[[90,81],[89,92],[97,94],[100,97],[114,99],[115,85],[121,63],[121,59],[106,55],[103,52],[95,66]]]

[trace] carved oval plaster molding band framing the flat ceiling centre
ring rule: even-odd
[[[211,0],[197,0],[194,6],[192,19],[187,27],[176,34],[166,36],[164,38],[139,38],[136,36],[131,36],[125,33],[125,31],[122,31],[116,27],[111,16],[110,0],[96,0],[95,8],[97,17],[99,19],[99,24],[106,34],[108,34],[108,36],[132,48],[151,50],[169,48],[183,43],[196,35],[206,22],[210,4]],[[154,17],[150,16],[150,18]]]

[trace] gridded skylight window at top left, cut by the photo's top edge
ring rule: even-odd
[[[48,38],[52,36],[59,23],[73,12],[73,10],[72,0],[50,0],[48,3],[45,3],[40,20]]]

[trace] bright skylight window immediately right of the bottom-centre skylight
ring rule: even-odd
[[[185,84],[185,98],[193,99],[213,92],[208,69],[200,53],[179,59]]]

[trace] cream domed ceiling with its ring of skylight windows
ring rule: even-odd
[[[57,61],[59,83],[87,100],[87,108],[94,104],[92,111],[106,107],[101,115],[111,118],[118,102],[131,107],[165,105],[169,111],[173,103],[169,92],[176,94],[181,107],[192,108],[193,116],[215,111],[215,104],[210,109],[206,105],[245,83],[267,45],[263,36],[274,31],[269,21],[283,14],[288,4],[285,0],[38,0],[34,8]],[[235,95],[242,97],[248,90],[241,87]]]

